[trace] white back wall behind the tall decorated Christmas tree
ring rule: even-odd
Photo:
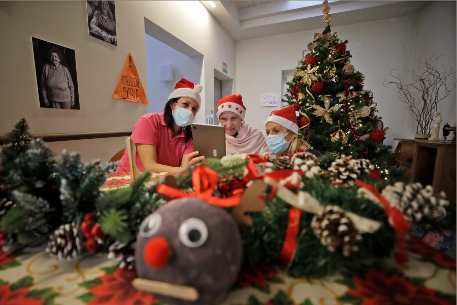
[[[248,124],[261,131],[265,130],[263,121],[272,110],[279,107],[258,108],[259,96],[262,93],[281,93],[281,71],[297,67],[302,52],[307,49],[314,33],[321,33],[325,24],[316,26],[321,27],[314,31],[236,42],[236,93],[243,97]],[[341,40],[348,40],[347,48],[352,54],[351,63],[364,74],[364,88],[372,90],[373,101],[377,103],[379,111],[377,115],[383,117],[384,127],[389,127],[385,144],[390,145],[394,138],[413,138],[415,123],[406,106],[398,101],[396,90],[384,86],[384,78],[394,68],[400,68],[401,72],[410,71],[416,49],[425,50],[428,44],[434,44],[434,49],[448,50],[446,53],[453,58],[450,66],[455,71],[455,26],[455,2],[452,1],[434,2],[420,18],[406,16],[332,27],[332,33],[337,32]],[[422,28],[433,28],[433,31],[422,33],[425,32],[420,30]],[[432,38],[440,31],[444,34]],[[423,39],[419,44],[416,42],[418,34],[422,35]],[[446,36],[446,39],[441,38],[441,35]],[[356,50],[356,44],[361,45],[361,50]],[[455,91],[453,99],[443,101],[441,106],[453,109],[449,116],[453,117],[455,122]]]

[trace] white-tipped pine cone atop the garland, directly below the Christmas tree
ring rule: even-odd
[[[341,159],[335,160],[329,167],[330,180],[334,183],[352,186],[357,177],[361,175],[361,169],[365,171],[361,168],[359,160],[341,155]]]

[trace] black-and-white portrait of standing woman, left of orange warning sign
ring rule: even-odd
[[[32,38],[32,43],[40,106],[80,109],[75,51],[37,38]]]

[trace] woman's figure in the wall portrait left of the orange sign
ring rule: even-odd
[[[41,95],[46,106],[70,109],[75,105],[75,86],[70,71],[60,65],[62,53],[56,47],[48,51],[49,64],[41,73]]]

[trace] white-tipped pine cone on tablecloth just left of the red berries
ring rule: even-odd
[[[82,234],[76,224],[64,224],[49,235],[48,252],[51,257],[71,260],[82,249]]]

